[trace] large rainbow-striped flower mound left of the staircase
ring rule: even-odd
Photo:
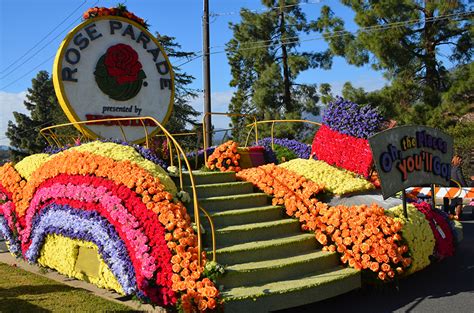
[[[176,193],[133,147],[91,142],[0,167],[0,232],[29,262],[161,306],[213,309],[219,292]],[[99,277],[74,271],[79,247],[97,251]]]

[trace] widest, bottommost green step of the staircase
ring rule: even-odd
[[[332,298],[360,288],[360,271],[335,267],[303,277],[224,290],[224,311],[269,312]],[[315,308],[316,311],[316,308]]]

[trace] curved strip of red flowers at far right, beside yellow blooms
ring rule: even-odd
[[[413,203],[425,215],[435,238],[434,256],[441,260],[454,255],[454,237],[448,222],[426,202]]]

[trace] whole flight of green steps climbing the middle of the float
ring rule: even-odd
[[[341,267],[336,253],[322,251],[313,234],[303,233],[296,219],[286,217],[283,207],[270,205],[270,198],[255,192],[251,183],[236,181],[235,173],[193,174],[199,204],[215,224],[216,261],[226,266],[217,282],[223,286],[225,312],[291,308],[360,287],[360,272]],[[190,185],[189,177],[184,184]],[[204,216],[201,223],[211,258]]]

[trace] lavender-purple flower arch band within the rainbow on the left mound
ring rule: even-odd
[[[31,245],[25,253],[28,261],[37,261],[48,234],[93,242],[123,291],[128,295],[137,291],[135,270],[124,242],[115,228],[97,212],[54,203],[45,207],[33,222]]]

